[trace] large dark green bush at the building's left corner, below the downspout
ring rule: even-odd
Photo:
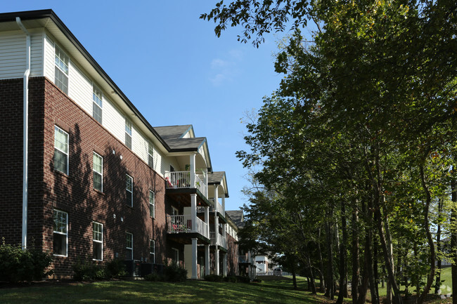
[[[38,281],[53,274],[53,270],[46,271],[51,262],[49,252],[22,250],[20,245],[5,244],[3,240],[0,246],[0,279],[12,283]]]

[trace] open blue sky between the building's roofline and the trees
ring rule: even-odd
[[[4,1],[2,12],[51,8],[153,126],[192,124],[205,136],[214,171],[226,171],[226,210],[246,202],[243,113],[262,106],[281,81],[273,52],[240,44],[241,29],[220,38],[199,19],[217,1]]]

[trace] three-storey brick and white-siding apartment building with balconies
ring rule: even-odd
[[[0,14],[0,103],[7,243],[51,251],[56,277],[80,258],[238,273],[206,138],[151,126],[53,11]]]

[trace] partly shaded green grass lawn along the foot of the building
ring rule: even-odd
[[[300,286],[304,286],[300,282]],[[42,286],[41,286],[42,285]],[[187,281],[96,282],[1,288],[0,303],[326,303],[304,289],[292,289],[292,280],[262,283]]]

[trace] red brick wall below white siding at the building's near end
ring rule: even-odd
[[[0,235],[20,242],[22,224],[22,79],[0,81],[2,150]],[[54,126],[69,134],[69,173],[53,169]],[[68,213],[68,256],[55,256],[56,277],[72,275],[77,258],[92,257],[92,222],[103,224],[103,260],[124,258],[126,232],[134,234],[134,259],[165,258],[165,181],[51,81],[30,79],[29,242],[53,248],[53,209]],[[115,153],[113,154],[113,150]],[[103,193],[93,189],[92,157],[103,157]],[[122,159],[120,158],[122,155]],[[134,207],[126,204],[126,173],[134,179]],[[155,191],[155,218],[149,216]]]

